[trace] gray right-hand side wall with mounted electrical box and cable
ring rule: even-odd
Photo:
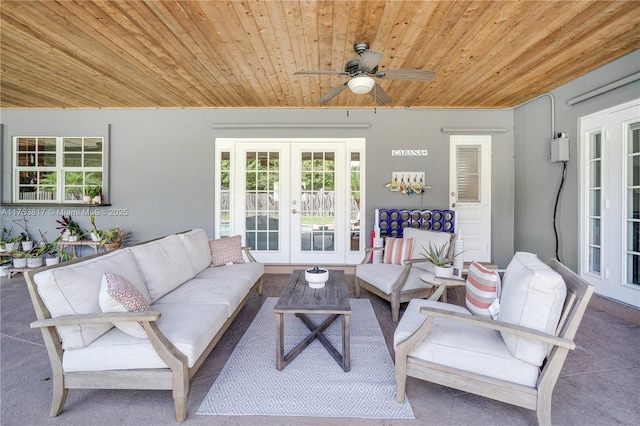
[[[578,120],[640,97],[640,81],[626,84],[583,102],[570,99],[640,72],[640,51],[626,55],[578,78],[552,93],[555,133],[569,138],[570,160],[558,204],[559,257],[578,269]],[[515,123],[515,249],[531,251],[548,261],[555,257],[553,210],[562,177],[562,163],[549,162],[551,102],[542,96],[514,110]]]

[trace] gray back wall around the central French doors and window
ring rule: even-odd
[[[2,187],[10,187],[7,144],[15,135],[104,135],[111,125],[110,202],[124,216],[98,218],[121,225],[143,241],[189,228],[213,234],[214,140],[216,137],[364,137],[367,140],[366,235],[379,207],[446,208],[449,137],[442,127],[507,129],[493,139],[492,239],[494,262],[513,254],[514,171],[512,110],[407,109],[201,109],[201,110],[3,110],[5,155]],[[369,123],[350,128],[215,129],[213,123]],[[392,157],[392,149],[427,149],[427,157]],[[390,193],[394,170],[424,171],[432,189],[423,196]],[[5,200],[7,198],[5,197]],[[3,206],[3,224],[13,207]],[[77,208],[69,208],[71,211]],[[31,216],[29,227],[56,235],[58,214]],[[107,211],[108,212],[108,211]],[[58,213],[56,210],[55,213]],[[76,215],[77,216],[77,215]],[[76,217],[89,227],[89,217]]]

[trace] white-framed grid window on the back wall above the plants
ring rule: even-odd
[[[103,192],[103,137],[13,138],[14,202],[80,203]]]

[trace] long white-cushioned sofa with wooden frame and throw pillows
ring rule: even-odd
[[[262,294],[263,274],[240,237],[201,229],[29,271],[32,327],[53,370],[50,415],[68,389],[171,389],[184,421],[190,379],[252,290]]]

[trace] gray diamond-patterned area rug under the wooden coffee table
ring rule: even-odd
[[[394,365],[366,299],[351,299],[351,371],[344,372],[317,340],[283,370],[276,369],[277,298],[268,298],[198,409],[201,415],[414,419],[408,399],[395,400]],[[285,353],[308,335],[285,315]],[[319,323],[322,316],[313,317]],[[342,350],[342,321],[325,336]]]

